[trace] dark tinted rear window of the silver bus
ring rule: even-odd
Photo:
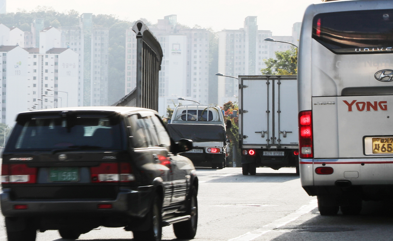
[[[393,9],[318,14],[312,38],[337,54],[392,53]]]

